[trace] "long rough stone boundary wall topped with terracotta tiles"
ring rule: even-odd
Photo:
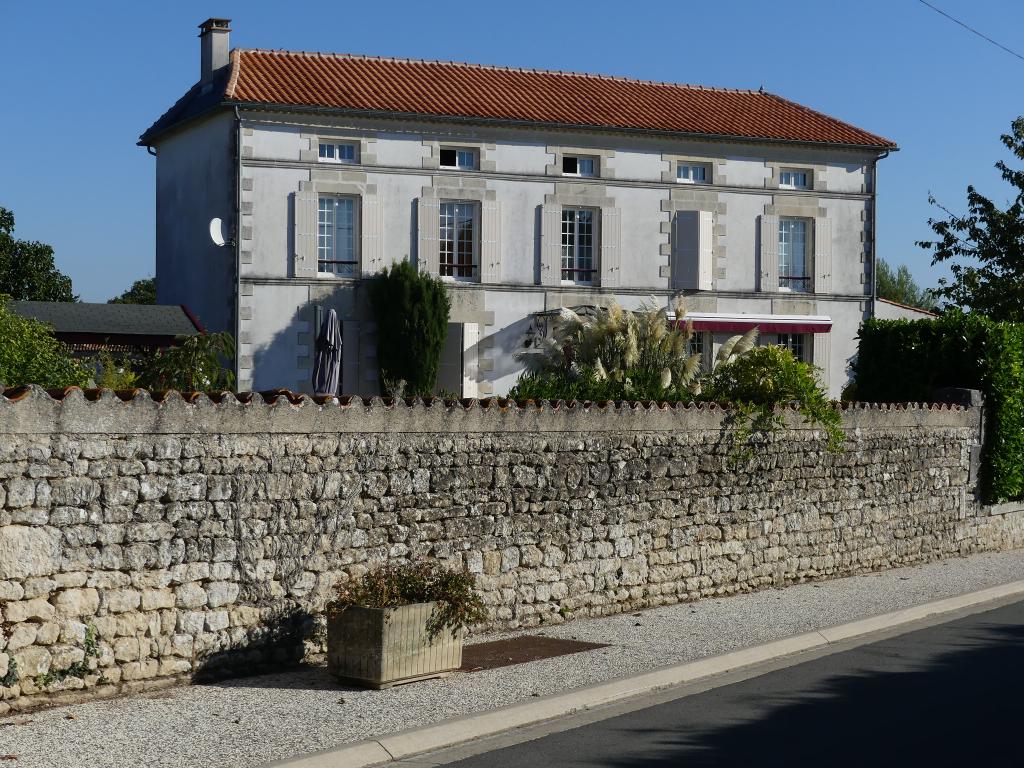
[[[315,651],[339,581],[478,575],[492,628],[1024,544],[981,409],[856,406],[737,466],[717,407],[0,394],[0,715]]]

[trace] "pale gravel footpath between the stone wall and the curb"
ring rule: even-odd
[[[1019,579],[1024,550],[975,555],[530,630],[609,647],[383,691],[303,667],[56,708],[0,718],[0,755],[20,768],[259,765]]]

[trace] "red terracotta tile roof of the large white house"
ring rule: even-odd
[[[223,96],[228,103],[896,146],[761,91],[454,61],[237,49]],[[169,127],[162,122],[143,140]]]

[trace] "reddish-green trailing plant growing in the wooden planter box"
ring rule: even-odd
[[[429,602],[436,603],[427,623],[431,638],[443,630],[455,636],[459,630],[487,617],[472,573],[428,560],[385,563],[373,568],[339,586],[327,610],[329,614],[338,614],[353,605],[396,608]]]

